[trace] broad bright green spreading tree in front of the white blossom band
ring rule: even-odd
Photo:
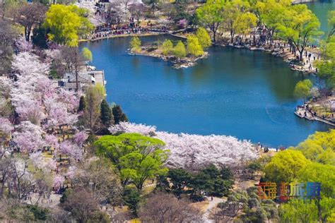
[[[136,133],[104,135],[95,142],[98,154],[109,158],[121,172],[124,182],[133,183],[141,190],[146,179],[165,174],[163,162],[168,150],[164,143],[156,138]]]

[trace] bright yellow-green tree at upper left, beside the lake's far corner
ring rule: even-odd
[[[55,4],[49,7],[44,26],[49,30],[50,40],[77,47],[79,37],[84,37],[93,30],[93,25],[87,17],[86,9]]]

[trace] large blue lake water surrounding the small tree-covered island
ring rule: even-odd
[[[324,4],[308,6],[318,16],[329,10]],[[320,20],[322,29],[324,22],[327,27],[327,18]],[[141,40],[146,44],[167,37],[172,38]],[[297,145],[315,131],[330,128],[293,114],[302,104],[294,99],[293,89],[303,77],[280,57],[212,47],[210,56],[196,66],[175,69],[160,59],[128,55],[130,40],[119,37],[81,47],[88,47],[92,64],[105,70],[107,101],[120,104],[131,122],[172,133],[233,135],[271,147]]]

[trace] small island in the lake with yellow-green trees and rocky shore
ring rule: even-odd
[[[175,68],[194,66],[198,59],[208,56],[204,49],[211,46],[211,37],[204,28],[199,28],[196,34],[187,35],[186,43],[179,40],[165,40],[142,46],[139,37],[133,37],[129,53],[134,55],[153,56],[169,61]]]

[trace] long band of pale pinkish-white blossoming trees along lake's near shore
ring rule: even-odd
[[[240,159],[256,159],[257,151],[247,140],[225,135],[189,135],[156,131],[155,126],[121,122],[109,128],[111,133],[155,135],[170,150],[168,167],[201,167],[208,163],[232,164]]]

